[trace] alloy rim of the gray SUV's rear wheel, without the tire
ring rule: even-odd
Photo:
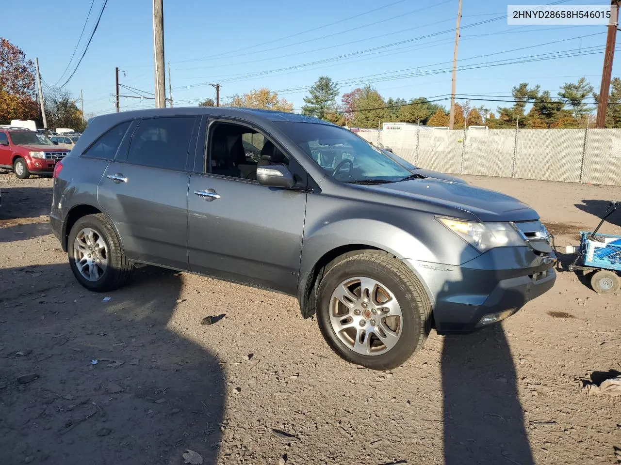
[[[108,249],[99,232],[83,228],[73,241],[73,257],[82,277],[99,281],[108,267]]]

